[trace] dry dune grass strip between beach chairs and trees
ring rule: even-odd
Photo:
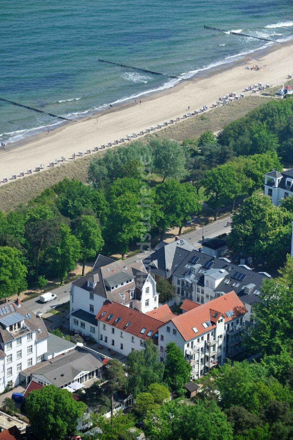
[[[224,125],[234,121],[238,117],[244,116],[250,110],[264,104],[273,97],[246,96],[245,99],[239,99],[229,105],[214,109],[208,113],[198,115],[181,121],[180,124],[169,125],[166,129],[161,129],[152,135],[142,138],[143,142],[148,142],[150,136],[156,136],[161,139],[167,137],[169,139],[182,142],[184,139],[198,138],[201,133],[206,130],[217,132]],[[127,144],[119,148],[127,148]],[[104,151],[99,151],[99,156],[104,155]],[[95,156],[96,156],[95,154]],[[52,187],[54,183],[68,179],[78,179],[86,183],[87,169],[89,162],[93,158],[93,154],[86,155],[77,160],[69,160],[63,165],[34,173],[23,179],[15,180],[9,184],[0,185],[0,209],[7,211],[15,208],[20,203],[27,204],[33,197],[36,197],[46,188]]]

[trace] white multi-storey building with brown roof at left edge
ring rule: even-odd
[[[0,307],[0,392],[21,383],[21,373],[40,363],[49,334],[41,319],[19,298]]]

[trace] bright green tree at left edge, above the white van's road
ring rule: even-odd
[[[27,289],[27,269],[21,252],[9,246],[0,247],[0,298],[10,297]]]

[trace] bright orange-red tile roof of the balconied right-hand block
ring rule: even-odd
[[[234,312],[234,316],[228,318],[225,313],[229,310]],[[211,321],[215,312],[219,313],[219,316],[217,317],[218,319],[223,316],[225,323],[227,323],[236,316],[243,315],[247,310],[242,301],[237,297],[236,293],[232,291],[226,293],[222,297],[209,301],[206,304],[202,304],[200,307],[193,308],[189,312],[175,316],[171,321],[174,326],[176,326],[183,339],[189,341],[190,339],[194,339],[200,334],[206,333],[208,330],[215,328],[216,325],[212,322],[212,325],[208,328],[204,328],[202,325],[202,323],[206,321]],[[193,327],[197,328],[197,333],[193,331]]]

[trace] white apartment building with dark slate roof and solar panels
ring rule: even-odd
[[[156,273],[163,276],[167,258],[167,264],[171,267],[167,278],[172,279],[176,288],[173,304],[180,304],[186,298],[205,304],[233,289],[248,310],[246,319],[253,319],[252,305],[260,301],[260,287],[263,279],[271,277],[269,274],[252,271],[248,266],[237,266],[225,257],[211,257],[198,249],[189,251],[178,245],[171,248],[169,256],[169,246],[165,244],[156,249],[150,256],[152,261],[148,267],[153,277]],[[155,266],[153,261],[156,262]]]

